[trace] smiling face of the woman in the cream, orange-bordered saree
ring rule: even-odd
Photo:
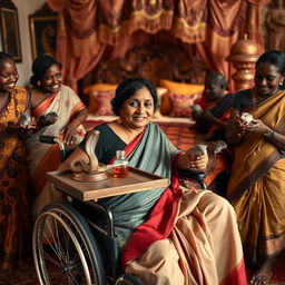
[[[58,65],[53,65],[46,70],[41,80],[40,89],[47,94],[58,92],[62,81],[61,69]]]

